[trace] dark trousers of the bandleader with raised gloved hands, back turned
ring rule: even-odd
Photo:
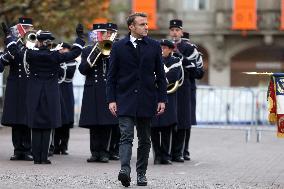
[[[47,160],[51,129],[32,129],[32,150],[34,161]]]

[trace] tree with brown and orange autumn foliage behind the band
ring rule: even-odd
[[[67,40],[74,35],[77,23],[87,26],[95,18],[108,18],[106,2],[109,0],[2,0],[0,21],[12,26],[21,16],[31,17],[36,30],[49,30]]]

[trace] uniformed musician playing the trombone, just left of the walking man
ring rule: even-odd
[[[109,57],[103,55],[102,49],[98,48],[98,43],[108,39],[106,31],[106,24],[93,25],[97,41],[94,46],[83,50],[79,66],[80,73],[86,76],[79,127],[90,129],[91,157],[87,162],[109,162],[111,129],[118,124],[117,118],[109,112],[106,101]]]

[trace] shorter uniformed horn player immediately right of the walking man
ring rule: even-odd
[[[182,63],[177,57],[172,56],[174,44],[166,39],[160,42],[162,47],[163,63],[165,66],[168,85],[178,82]],[[172,128],[177,124],[177,93],[168,94],[168,103],[165,113],[154,117],[151,127],[151,139],[154,152],[154,164],[172,164],[171,138]]]

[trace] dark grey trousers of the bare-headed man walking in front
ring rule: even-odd
[[[136,125],[138,148],[136,172],[146,173],[151,148],[151,118],[135,118],[128,116],[118,117],[120,128],[119,155],[121,169],[131,172],[130,160],[132,156],[132,142],[134,138],[134,125]]]

